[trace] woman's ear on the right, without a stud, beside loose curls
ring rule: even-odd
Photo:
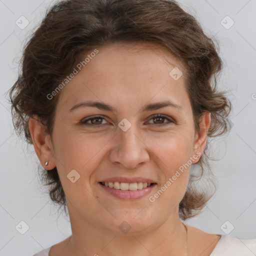
[[[200,159],[200,155],[202,155],[203,150],[206,146],[207,141],[207,133],[210,127],[210,113],[204,112],[200,117],[199,122],[199,131],[195,135],[194,145],[193,145],[193,155],[192,155],[192,163],[196,163]],[[197,157],[196,157],[197,155]]]

